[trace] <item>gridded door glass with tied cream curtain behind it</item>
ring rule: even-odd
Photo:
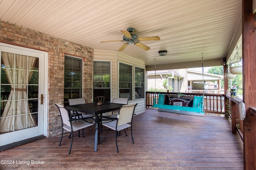
[[[37,126],[37,58],[3,51],[1,57],[0,134]],[[37,103],[30,98],[36,98]]]

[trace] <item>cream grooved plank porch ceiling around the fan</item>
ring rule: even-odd
[[[200,63],[202,53],[222,63],[234,56],[241,15],[242,0],[0,0],[0,20],[93,49],[118,50],[126,42],[100,41],[122,40],[120,30],[128,27],[138,37],[159,36],[141,42],[148,51],[136,45],[122,51],[147,66]],[[159,57],[160,50],[167,55]]]

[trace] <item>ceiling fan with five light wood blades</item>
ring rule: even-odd
[[[126,30],[121,30],[121,32],[124,34],[123,36],[123,40],[110,40],[110,41],[101,41],[101,43],[108,43],[108,42],[114,42],[114,41],[126,41],[127,43],[125,43],[124,45],[122,45],[122,47],[118,50],[118,51],[123,51],[125,49],[125,47],[127,47],[127,45],[129,44],[134,44],[137,45],[138,47],[144,49],[144,50],[149,50],[150,47],[138,42],[138,41],[158,41],[160,40],[160,38],[158,36],[155,37],[138,37],[138,35],[136,34],[132,34],[132,32],[134,32],[134,28],[129,27]]]

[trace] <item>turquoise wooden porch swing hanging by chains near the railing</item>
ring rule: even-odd
[[[156,69],[156,62],[155,62],[155,69]],[[203,53],[202,53],[202,80],[205,85]],[[166,96],[167,94],[158,94],[158,99],[154,98],[153,107],[158,108],[158,111],[204,116],[204,90],[203,90],[202,96],[194,96],[194,97],[182,96],[181,97],[181,96],[172,95],[173,97],[170,97],[170,99],[167,97],[170,100],[168,104],[166,104],[165,102]],[[189,100],[192,101],[191,107],[188,107]]]

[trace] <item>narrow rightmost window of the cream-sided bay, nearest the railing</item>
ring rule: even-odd
[[[144,68],[135,67],[135,99],[144,98]]]

